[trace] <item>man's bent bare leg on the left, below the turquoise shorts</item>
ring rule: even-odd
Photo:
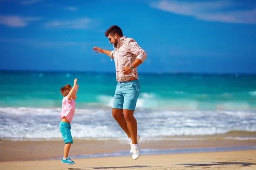
[[[122,128],[122,130],[125,131],[128,138],[131,138],[131,134],[128,130],[127,123],[123,114],[123,109],[114,109],[112,108],[112,116],[114,119],[116,119],[116,122],[118,125]],[[137,124],[136,124],[137,127]],[[137,140],[137,139],[136,139]]]

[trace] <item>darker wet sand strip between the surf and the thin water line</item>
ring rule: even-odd
[[[139,142],[141,150],[145,149],[186,149],[211,147],[250,147],[256,146],[256,140],[190,140],[190,141],[144,141]],[[0,161],[32,161],[61,159],[64,143],[59,141],[0,141]],[[127,152],[130,145],[125,141],[78,140],[71,146],[71,158],[83,158],[83,155]],[[154,151],[157,152],[157,151]],[[149,152],[150,153],[150,152]],[[152,154],[158,154],[153,153]],[[169,153],[167,153],[169,154]],[[125,156],[125,155],[121,155]]]

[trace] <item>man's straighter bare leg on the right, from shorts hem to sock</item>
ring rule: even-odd
[[[123,113],[128,130],[131,134],[132,144],[137,144],[137,121],[134,117],[134,111],[123,109]]]

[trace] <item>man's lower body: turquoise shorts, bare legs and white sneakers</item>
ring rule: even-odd
[[[140,136],[137,136],[137,121],[134,118],[134,110],[139,95],[139,80],[122,83],[119,82],[116,85],[112,108],[113,118],[116,119],[116,122],[125,131],[130,139],[130,153],[133,154],[132,157],[134,160],[140,157],[140,147],[137,143]]]

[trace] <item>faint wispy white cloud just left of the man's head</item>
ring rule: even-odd
[[[89,18],[81,18],[79,20],[52,21],[50,23],[46,23],[45,26],[52,28],[87,29],[92,26],[92,20]]]

